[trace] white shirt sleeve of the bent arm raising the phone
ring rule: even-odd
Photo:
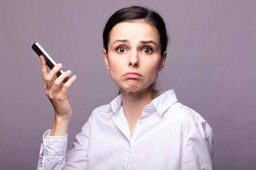
[[[66,152],[66,136],[49,136],[51,130],[43,135],[37,170],[86,170],[91,116],[75,137],[73,149]]]

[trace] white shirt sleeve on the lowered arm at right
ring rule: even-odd
[[[200,123],[185,142],[181,170],[214,170],[213,131],[207,122]]]

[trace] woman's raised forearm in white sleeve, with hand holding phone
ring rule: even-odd
[[[65,84],[63,84],[63,80],[71,75],[71,71],[68,70],[57,77],[57,72],[62,68],[61,64],[58,64],[48,72],[46,61],[43,56],[40,56],[40,61],[45,94],[53,105],[55,117],[51,131],[48,131],[48,134],[46,133],[46,136],[43,137],[43,143],[39,154],[38,169],[65,169],[65,166],[63,165],[65,165],[67,130],[69,120],[72,116],[68,90],[76,80],[76,76],[72,76]]]

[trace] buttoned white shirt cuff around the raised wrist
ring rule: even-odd
[[[42,154],[59,156],[66,153],[68,134],[65,136],[50,136],[51,129],[43,134],[42,138]]]

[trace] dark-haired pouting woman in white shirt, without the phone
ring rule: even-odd
[[[41,56],[45,93],[55,110],[43,135],[39,170],[212,170],[213,134],[194,110],[177,102],[173,89],[154,89],[164,67],[168,37],[162,18],[147,8],[118,10],[103,32],[103,56],[120,95],[96,108],[66,153],[72,116],[66,71],[54,82]]]

